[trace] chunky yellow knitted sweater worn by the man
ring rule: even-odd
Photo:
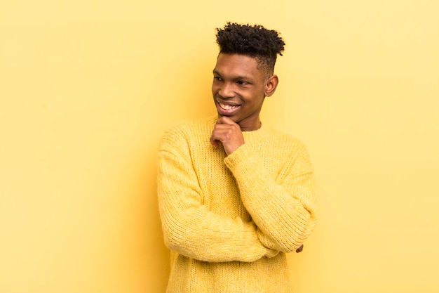
[[[171,250],[168,293],[292,292],[285,253],[313,230],[311,163],[295,138],[262,126],[227,156],[216,117],[166,132],[158,205]]]

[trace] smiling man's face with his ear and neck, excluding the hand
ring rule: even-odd
[[[266,96],[276,90],[278,79],[258,69],[255,58],[220,53],[213,70],[212,96],[218,117],[227,116],[242,131],[259,129],[259,112]]]

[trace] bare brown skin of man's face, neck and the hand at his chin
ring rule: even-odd
[[[218,120],[210,142],[215,148],[222,143],[230,155],[245,143],[242,131],[261,127],[262,104],[276,91],[278,77],[258,67],[256,58],[224,53],[217,58],[213,76],[212,96]]]

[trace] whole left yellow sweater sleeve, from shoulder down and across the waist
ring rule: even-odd
[[[182,131],[168,131],[158,154],[158,206],[168,248],[200,261],[256,261],[278,254],[259,240],[255,223],[209,211]]]

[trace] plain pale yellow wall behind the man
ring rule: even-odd
[[[320,210],[295,292],[439,292],[438,3],[0,0],[0,293],[164,292],[158,140],[215,113],[227,20],[287,42],[262,121]]]

